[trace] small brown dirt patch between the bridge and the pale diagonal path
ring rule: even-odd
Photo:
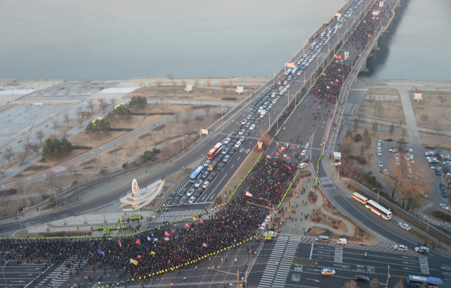
[[[378,107],[378,104],[381,104],[381,106],[383,107],[381,111],[378,111],[376,109]],[[362,104],[360,104],[356,114],[359,115],[358,113],[361,113],[363,117],[367,116],[375,119],[393,121],[395,123],[399,122],[398,115],[404,115],[400,101],[376,100],[371,104],[370,101],[364,100],[362,101]]]

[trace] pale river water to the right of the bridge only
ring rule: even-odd
[[[382,79],[451,80],[451,1],[404,0],[389,32],[378,40],[381,50],[366,62]]]

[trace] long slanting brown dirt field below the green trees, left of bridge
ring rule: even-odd
[[[99,156],[90,158],[89,160],[80,163],[80,165],[76,166],[76,169],[100,169],[105,167],[105,164],[108,165],[108,167],[113,168],[117,165],[121,165],[121,158],[128,161],[130,158],[138,156],[146,150],[150,150],[159,144],[163,144],[164,140],[167,138],[174,139],[177,137],[182,137],[182,134],[197,134],[197,127],[209,127],[209,125],[214,123],[214,121],[218,118],[216,114],[209,114],[208,116],[204,115],[202,117],[204,120],[201,121],[194,120],[193,117],[192,122],[188,125],[188,127],[186,127],[186,125],[179,120],[178,123],[170,122],[165,124],[161,130],[142,134],[139,137],[135,137],[135,139],[125,143],[121,142],[121,139],[117,139],[115,149],[105,151]],[[85,135],[85,137],[87,137],[87,139],[85,139],[85,142],[83,143],[86,143],[89,139],[89,136]],[[189,144],[188,139],[190,138],[185,136],[185,147]],[[171,151],[178,151],[178,149],[183,148],[183,142],[178,141],[169,144],[169,148]],[[163,157],[163,153],[159,154],[159,158]]]

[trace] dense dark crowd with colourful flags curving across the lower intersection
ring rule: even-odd
[[[266,207],[278,204],[294,172],[293,164],[264,158],[240,187],[237,196],[216,213],[210,212],[205,220],[193,218],[194,222],[185,223],[183,227],[164,225],[121,237],[4,238],[1,239],[4,252],[1,259],[64,261],[77,274],[83,271],[82,259],[87,259],[88,270],[108,267],[120,270],[121,277],[128,279],[178,270],[185,263],[196,264],[202,257],[221,249],[236,249],[237,244],[253,237],[270,213]],[[7,251],[13,253],[5,253]],[[70,257],[73,259],[69,260]],[[92,276],[88,279],[92,280]]]

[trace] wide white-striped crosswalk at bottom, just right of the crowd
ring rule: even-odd
[[[259,283],[259,288],[284,287],[295,257],[299,237],[278,237]]]

